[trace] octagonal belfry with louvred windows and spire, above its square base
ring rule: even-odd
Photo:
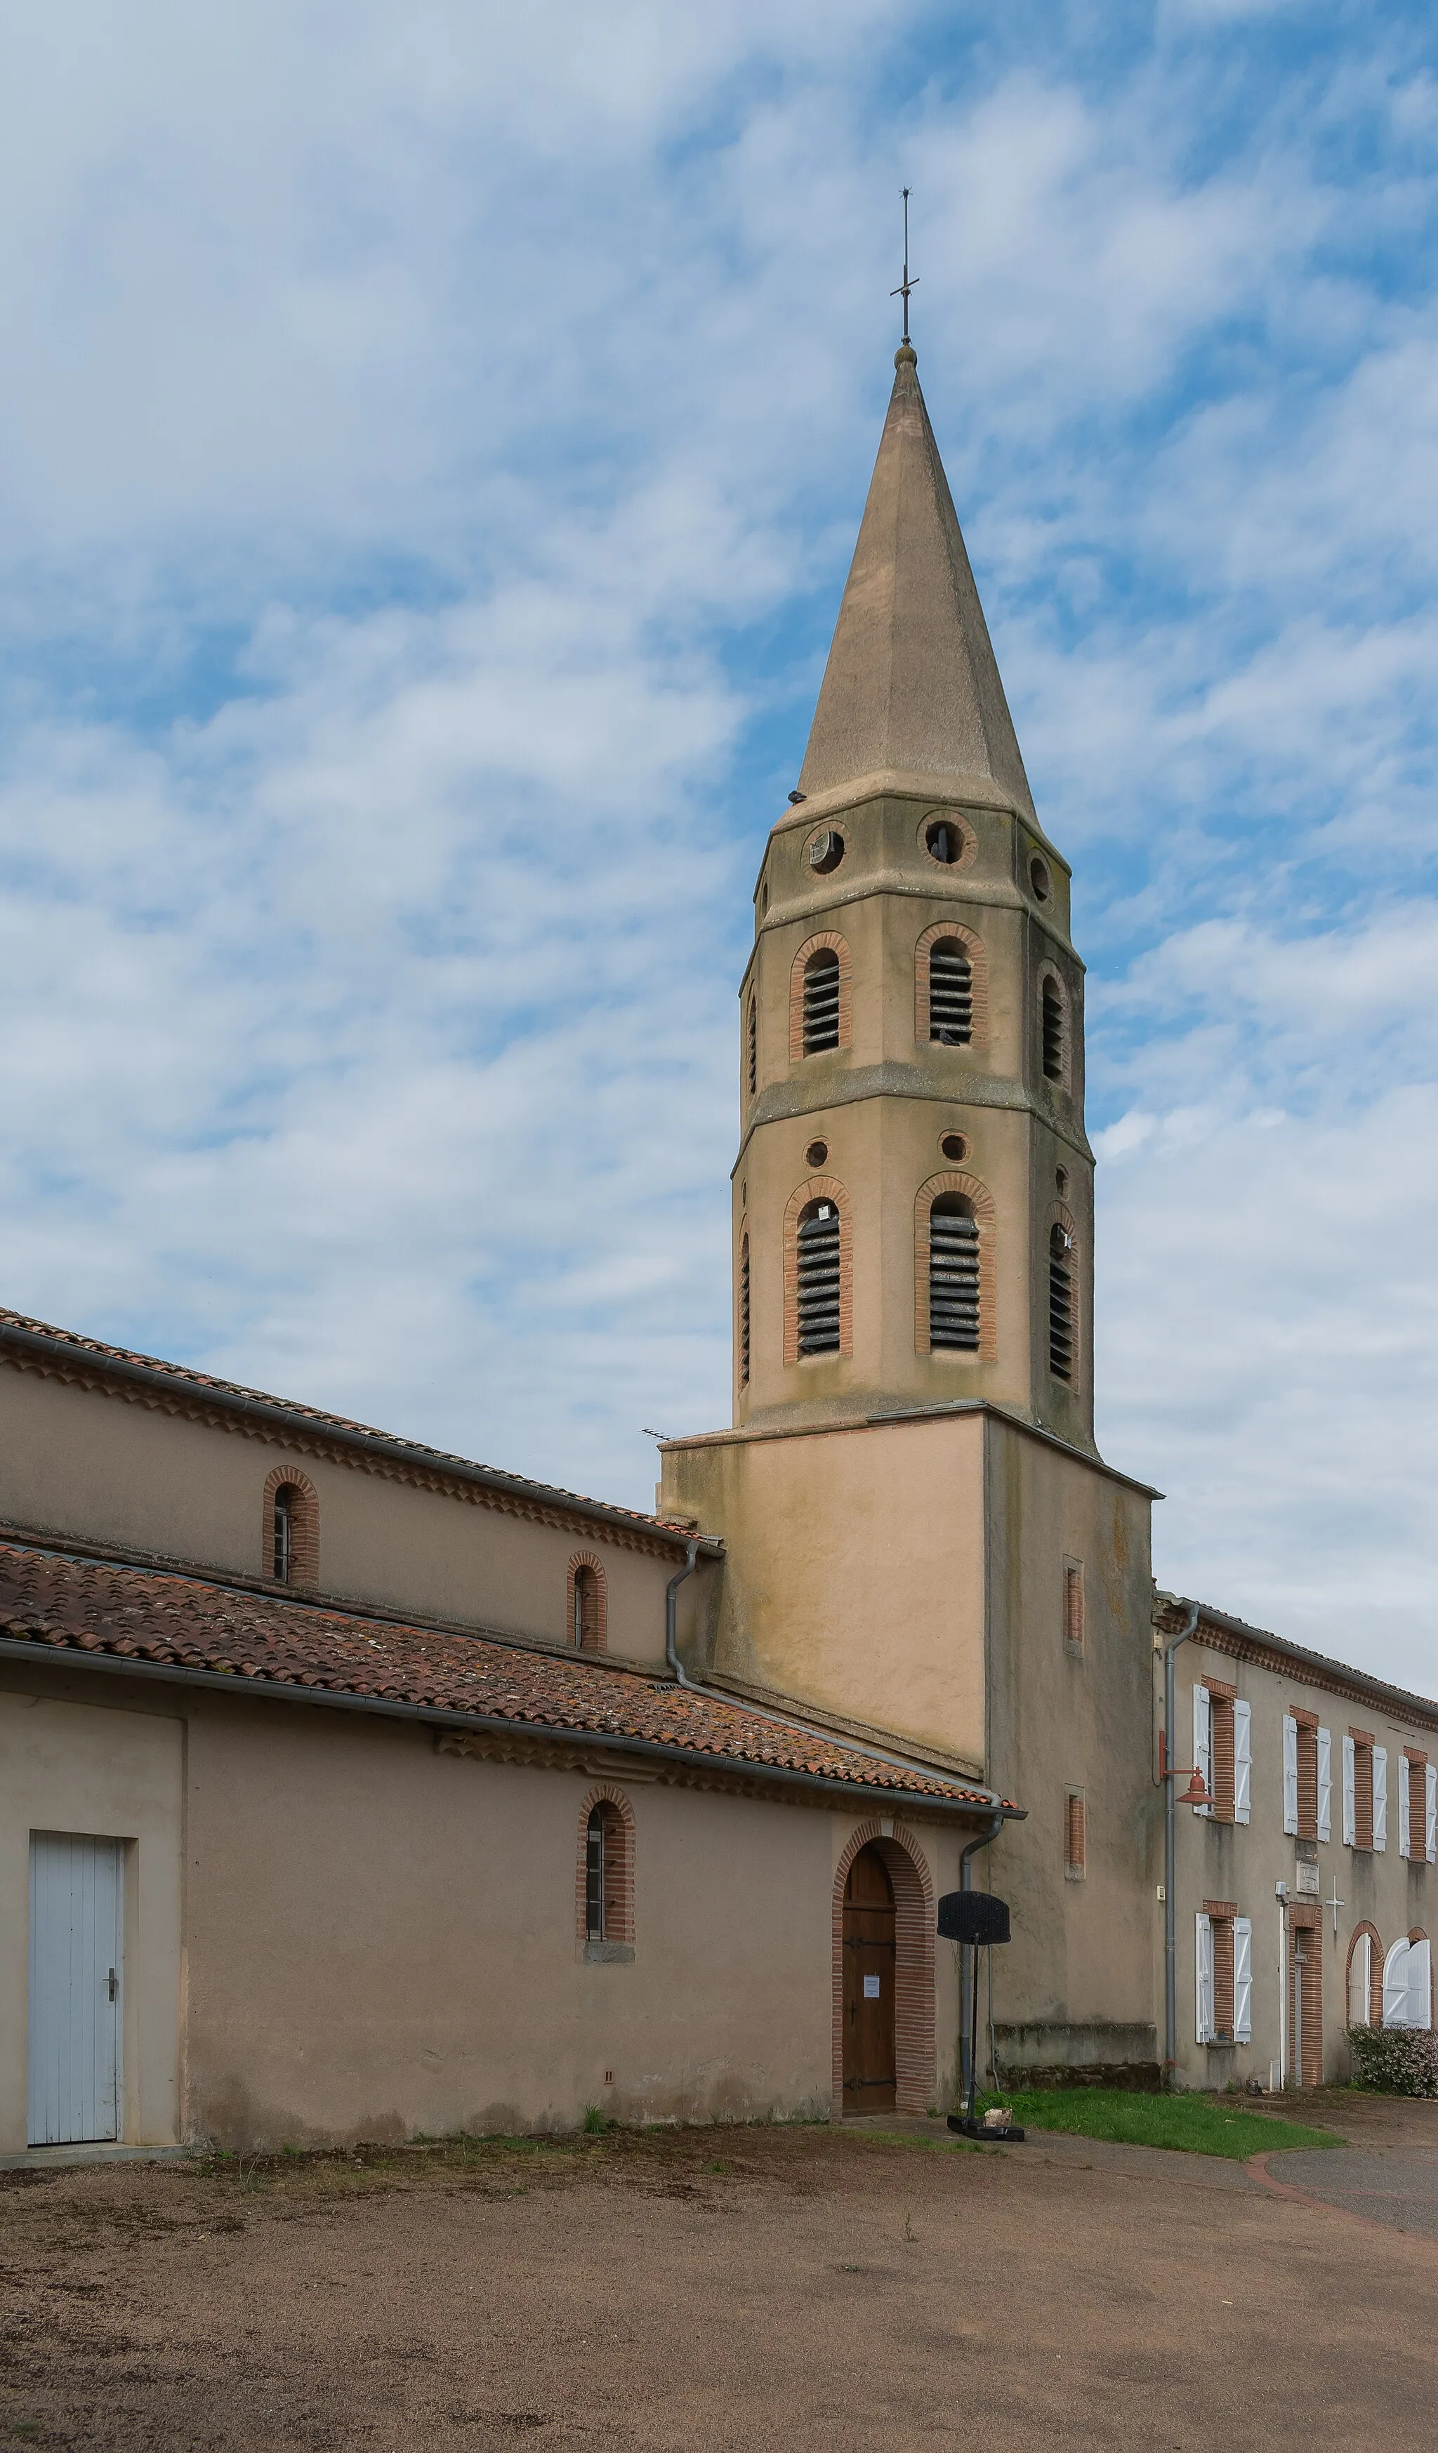
[[[1092,1447],[1070,871],[905,343],[741,986],[734,1420],[989,1401]]]

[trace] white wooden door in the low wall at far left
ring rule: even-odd
[[[120,2137],[123,1840],[29,1835],[29,2144]]]

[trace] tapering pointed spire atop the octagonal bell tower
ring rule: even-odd
[[[839,623],[825,667],[800,792],[866,775],[989,780],[1033,817],[1028,778],[940,449],[898,351],[893,397]]]

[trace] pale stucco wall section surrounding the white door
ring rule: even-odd
[[[179,2137],[184,1722],[0,1685],[0,2154],[27,2144],[29,1835],[125,1840],[123,2137]]]

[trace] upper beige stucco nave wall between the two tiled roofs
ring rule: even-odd
[[[650,1558],[594,1521],[533,1523],[0,1364],[0,1523],[260,1577],[265,1477],[287,1460],[319,1491],[324,1592],[562,1644],[569,1558],[591,1550],[609,1651],[663,1661],[677,1553]],[[687,1617],[694,1590],[680,1602]]]

